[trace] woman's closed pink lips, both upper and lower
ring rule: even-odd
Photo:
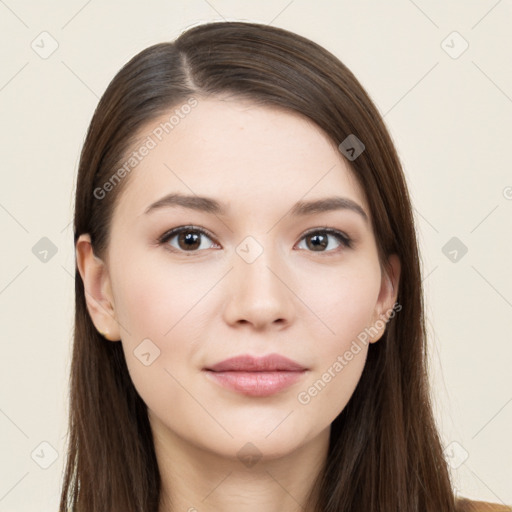
[[[307,368],[279,354],[232,357],[204,368],[207,378],[237,393],[270,396],[299,381]]]

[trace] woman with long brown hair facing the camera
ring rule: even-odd
[[[510,510],[454,496],[403,172],[325,49],[224,22],[135,56],[74,241],[62,510]]]

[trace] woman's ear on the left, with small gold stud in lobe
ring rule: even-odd
[[[95,256],[89,234],[80,235],[76,243],[76,263],[85,289],[85,302],[98,332],[110,341],[119,341],[120,329],[114,309],[114,297],[108,269]]]

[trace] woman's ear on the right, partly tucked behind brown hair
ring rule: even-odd
[[[382,268],[382,279],[380,285],[379,297],[375,305],[375,311],[372,317],[370,327],[371,339],[370,343],[375,343],[382,338],[386,331],[387,321],[390,314],[394,315],[393,306],[398,297],[398,285],[400,282],[400,259],[396,254],[391,254],[386,265]],[[396,311],[400,311],[401,306],[395,307]]]

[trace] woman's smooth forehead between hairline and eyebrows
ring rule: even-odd
[[[151,149],[130,171],[117,212],[123,217],[140,215],[172,192],[215,197],[233,214],[254,214],[255,207],[278,213],[288,203],[333,194],[368,211],[337,145],[304,116],[225,98],[198,99],[194,108],[177,110],[140,131],[132,151],[144,141]]]

